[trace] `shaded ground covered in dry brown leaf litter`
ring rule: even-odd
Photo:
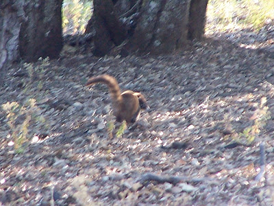
[[[274,205],[273,43],[268,25],[169,56],[14,67],[0,91],[0,205]],[[107,87],[84,87],[102,73],[150,106],[120,137]]]

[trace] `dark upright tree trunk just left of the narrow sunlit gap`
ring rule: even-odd
[[[20,30],[19,49],[27,62],[38,58],[58,58],[62,49],[62,0],[25,0],[25,16]]]

